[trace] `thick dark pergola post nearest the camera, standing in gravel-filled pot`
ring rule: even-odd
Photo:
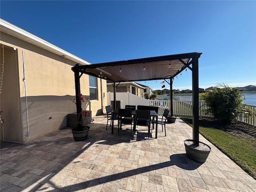
[[[193,140],[199,146],[199,78],[198,58],[192,58],[192,113],[193,113]]]

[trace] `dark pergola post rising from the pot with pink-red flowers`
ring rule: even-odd
[[[80,94],[80,76],[79,70],[74,70],[75,89],[76,89],[76,114],[78,118],[78,128],[82,128],[82,103],[78,94]]]

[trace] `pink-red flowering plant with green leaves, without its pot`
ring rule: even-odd
[[[86,109],[86,107],[88,106],[88,103],[89,103],[89,98],[88,97],[83,97],[81,93],[78,94],[78,97],[81,101],[81,104],[83,102],[86,102],[86,104],[85,104],[85,109]],[[74,104],[77,104],[76,99],[70,99],[70,100]],[[78,126],[78,130],[87,130],[87,129],[89,129],[88,124],[93,124],[94,119],[91,118],[90,112],[88,112],[86,110],[83,111],[83,109],[81,109],[81,110],[82,110],[82,112],[77,117],[78,121],[77,122],[69,122],[69,125],[71,127]],[[82,116],[80,116],[80,115],[82,115]],[[79,125],[82,125],[82,126],[79,126]]]

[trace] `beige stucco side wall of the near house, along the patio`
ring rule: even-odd
[[[75,104],[70,101],[75,98],[74,72],[71,67],[76,63],[4,33],[1,33],[1,43],[15,47],[17,52],[17,90],[20,96],[20,129],[23,132],[20,142],[28,142],[65,128],[67,114],[76,112]],[[23,53],[26,94],[23,81]],[[11,77],[6,77],[6,80],[11,80]],[[88,75],[82,75],[80,86],[81,93],[89,95]],[[106,92],[106,81],[98,79],[98,100],[91,100],[92,116],[101,110],[101,90]],[[5,105],[5,102],[1,101],[2,103]],[[106,101],[103,102],[103,106],[105,105]]]

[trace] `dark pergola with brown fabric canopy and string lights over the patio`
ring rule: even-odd
[[[185,53],[166,55],[150,58],[133,60],[123,60],[116,62],[106,62],[91,65],[76,64],[72,67],[75,75],[76,87],[76,110],[81,114],[81,102],[78,94],[80,93],[80,77],[88,74],[109,80],[114,87],[114,108],[116,104],[116,86],[120,82],[127,81],[146,81],[146,80],[166,80],[170,79],[170,93],[172,101],[172,82],[173,78],[186,68],[192,71],[192,113],[193,113],[193,140],[195,145],[199,145],[199,87],[198,87],[198,59],[202,53]],[[171,102],[171,115],[173,115]]]

